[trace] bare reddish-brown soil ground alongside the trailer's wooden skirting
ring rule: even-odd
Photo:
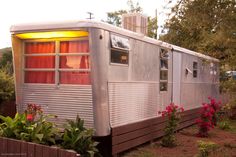
[[[160,140],[153,141],[141,147],[125,152],[123,157],[195,157],[198,154],[198,141],[211,141],[218,148],[211,156],[236,157],[236,133],[215,128],[210,131],[208,138],[197,137],[198,128],[192,126],[176,134],[177,146],[162,147]]]

